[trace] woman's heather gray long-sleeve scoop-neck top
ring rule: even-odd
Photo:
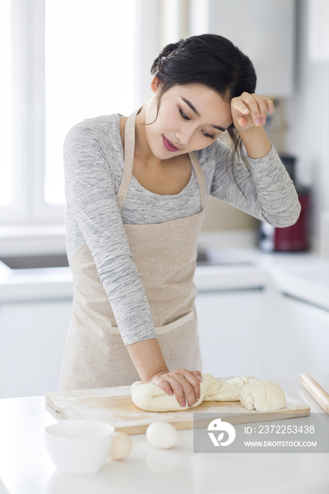
[[[153,224],[196,215],[201,196],[192,168],[191,179],[175,195],[146,190],[131,176],[124,206],[116,193],[124,171],[120,116],[112,114],[77,123],[64,142],[66,183],[66,248],[71,261],[86,242],[111,303],[125,345],[155,338],[150,306],[133,263],[124,224]],[[261,159],[247,157],[250,171],[232,151],[215,140],[195,152],[203,168],[207,195],[225,201],[275,227],[288,227],[300,213],[297,193],[272,146]]]

